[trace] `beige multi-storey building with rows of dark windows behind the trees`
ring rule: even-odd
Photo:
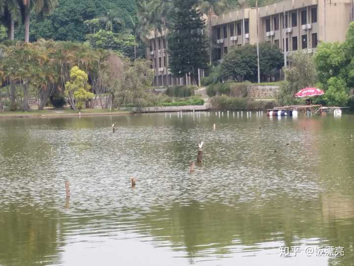
[[[287,53],[303,50],[312,54],[322,41],[342,42],[346,38],[349,23],[354,20],[353,2],[286,0],[262,6],[258,14],[256,8],[242,8],[215,16],[211,19],[212,60],[222,60],[237,46],[256,44],[257,25],[260,42],[270,42]],[[166,46],[165,33],[151,32],[148,36],[147,59],[155,71],[153,85],[191,84],[187,76],[176,78],[170,73]]]

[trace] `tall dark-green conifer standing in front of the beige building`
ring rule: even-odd
[[[205,22],[195,8],[197,0],[176,0],[169,35],[170,68],[176,76],[191,75],[197,84],[198,69],[208,62]]]

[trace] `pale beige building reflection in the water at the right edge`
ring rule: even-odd
[[[322,213],[325,220],[354,218],[354,198],[339,194],[324,195]]]

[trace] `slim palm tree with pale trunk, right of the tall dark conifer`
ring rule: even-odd
[[[200,9],[203,14],[207,15],[209,24],[209,64],[211,65],[211,51],[212,51],[212,28],[211,28],[211,18],[213,15],[219,15],[228,7],[227,0],[207,0],[200,4]]]

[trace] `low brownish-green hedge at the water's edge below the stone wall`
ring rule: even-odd
[[[215,110],[263,110],[279,104],[275,101],[256,101],[247,98],[214,96],[210,99],[212,109]]]

